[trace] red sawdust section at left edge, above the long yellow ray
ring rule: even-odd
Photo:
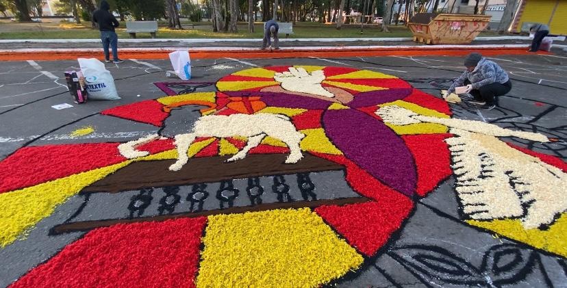
[[[119,143],[24,147],[0,162],[0,193],[125,161]]]

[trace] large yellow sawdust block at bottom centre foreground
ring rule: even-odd
[[[197,287],[318,287],[362,256],[310,209],[209,216]]]

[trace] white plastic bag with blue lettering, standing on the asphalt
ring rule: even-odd
[[[103,62],[95,58],[79,58],[79,66],[85,76],[88,98],[94,100],[118,100],[114,78]]]

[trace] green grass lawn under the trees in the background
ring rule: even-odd
[[[206,23],[205,23],[206,24]],[[51,27],[50,29],[31,29],[31,31],[13,31],[5,25],[13,25],[12,23],[2,23],[3,29],[0,29],[0,39],[88,39],[99,38],[99,31],[84,27],[81,25],[63,24],[59,27]],[[216,33],[212,31],[212,25],[196,24],[194,29],[192,26],[184,26],[183,30],[174,30],[160,27],[157,31],[157,38],[262,38],[262,23],[256,23],[255,32],[249,33],[247,25],[244,23],[238,25],[238,33]],[[334,25],[323,25],[309,23],[298,23],[293,27],[294,34],[289,38],[366,38],[366,37],[410,37],[412,33],[405,27],[391,27],[390,33],[383,33],[377,26],[365,26],[363,32],[360,26],[343,26],[337,30]],[[129,35],[125,29],[116,29],[119,38],[128,38]],[[138,38],[150,38],[149,33],[137,34]],[[285,35],[280,36],[285,38]]]

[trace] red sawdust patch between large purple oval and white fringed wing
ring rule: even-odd
[[[453,173],[449,147],[444,142],[448,137],[451,134],[402,136],[405,145],[414,155],[418,174],[416,192],[419,196],[431,192],[440,181]]]

